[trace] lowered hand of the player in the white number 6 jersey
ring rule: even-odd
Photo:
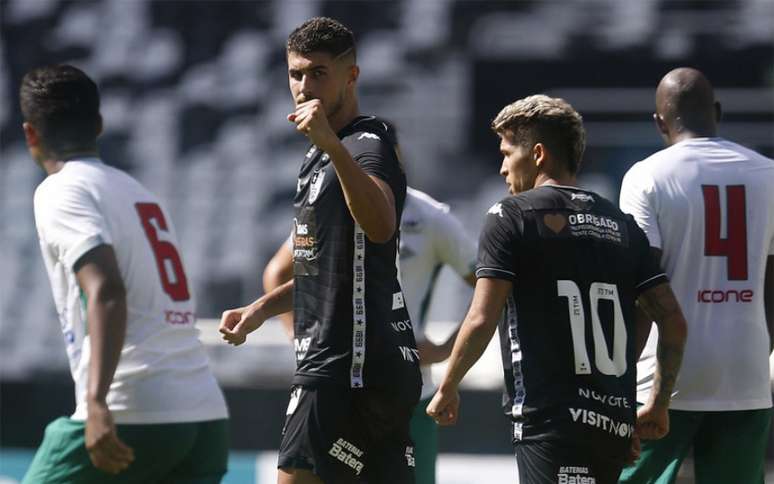
[[[118,438],[113,415],[104,403],[88,404],[86,451],[94,467],[118,474],[134,461],[134,450]]]

